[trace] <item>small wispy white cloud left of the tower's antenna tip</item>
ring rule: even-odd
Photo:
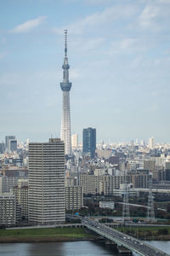
[[[14,29],[11,30],[10,32],[12,32],[12,33],[29,32],[32,28],[34,28],[36,26],[40,26],[45,19],[46,19],[46,16],[40,16],[34,20],[27,20],[23,24],[21,24],[19,26],[15,26]]]

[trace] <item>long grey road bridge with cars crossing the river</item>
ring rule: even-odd
[[[141,256],[170,256],[170,254],[164,253],[144,241],[140,241],[133,238],[133,236],[128,236],[120,231],[107,227],[105,224],[99,224],[99,222],[90,218],[82,218],[82,224],[84,224],[88,230],[92,230],[100,236],[116,242],[116,244],[120,246],[126,247],[135,253],[139,253]]]

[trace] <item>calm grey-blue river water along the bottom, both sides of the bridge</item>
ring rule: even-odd
[[[150,241],[165,253],[170,253],[170,241]],[[117,256],[112,247],[94,241],[62,241],[39,243],[2,243],[0,256]],[[139,254],[133,253],[137,256]]]

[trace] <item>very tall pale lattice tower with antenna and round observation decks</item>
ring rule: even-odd
[[[67,30],[65,30],[65,57],[63,68],[63,82],[60,83],[63,91],[62,114],[61,114],[61,140],[65,143],[65,154],[71,156],[71,112],[70,112],[70,90],[69,64],[67,57]]]

